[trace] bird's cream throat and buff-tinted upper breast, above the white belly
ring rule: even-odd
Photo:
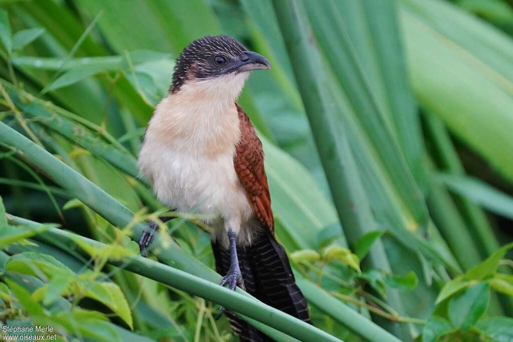
[[[156,107],[146,138],[194,155],[231,149],[239,140],[235,100],[249,72],[185,82]]]

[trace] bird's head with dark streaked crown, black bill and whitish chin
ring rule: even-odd
[[[271,69],[267,59],[248,51],[227,35],[207,36],[190,43],[176,60],[170,93],[183,88],[205,89],[209,95],[234,100],[249,71]],[[233,97],[230,99],[230,97]]]

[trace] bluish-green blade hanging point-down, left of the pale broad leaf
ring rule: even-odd
[[[372,95],[376,97],[377,105],[390,124],[410,171],[422,189],[425,183],[421,163],[424,146],[417,104],[408,84],[397,9],[393,2],[379,0],[336,3],[352,46],[365,70]]]

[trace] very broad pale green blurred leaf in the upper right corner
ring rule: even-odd
[[[448,2],[401,3],[410,79],[420,103],[513,179],[513,119],[504,111],[513,107],[513,41]]]

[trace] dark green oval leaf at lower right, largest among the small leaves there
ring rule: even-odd
[[[451,323],[463,330],[475,325],[483,317],[490,301],[490,287],[479,283],[458,293],[449,301],[449,318]]]

